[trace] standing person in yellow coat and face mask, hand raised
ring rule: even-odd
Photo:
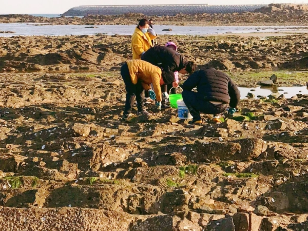
[[[151,47],[152,41],[157,37],[155,31],[149,27],[148,21],[143,18],[131,37],[132,59],[140,60],[141,56]]]

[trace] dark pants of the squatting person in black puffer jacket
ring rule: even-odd
[[[227,108],[227,104],[215,105],[209,101],[198,98],[198,93],[184,90],[182,97],[190,114],[194,119],[201,119],[200,112],[205,114],[220,114]]]

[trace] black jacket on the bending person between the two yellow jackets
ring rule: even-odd
[[[141,56],[141,60],[172,72],[183,69],[188,62],[183,55],[164,46],[151,47]]]

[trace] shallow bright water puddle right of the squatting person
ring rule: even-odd
[[[253,93],[255,95],[255,99],[258,97],[267,97],[272,93],[281,93],[284,94],[285,98],[292,98],[296,94],[308,94],[308,90],[306,86],[301,87],[256,87],[256,88],[246,88],[239,87],[241,92],[241,99],[247,98],[247,93]]]

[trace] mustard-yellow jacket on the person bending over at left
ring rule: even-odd
[[[151,89],[153,84],[154,92],[156,94],[156,101],[162,101],[162,91],[160,87],[160,80],[162,78],[162,70],[143,60],[129,60],[126,61],[130,79],[133,84],[137,84],[138,80],[142,81],[144,90]],[[137,73],[138,76],[137,76]]]

